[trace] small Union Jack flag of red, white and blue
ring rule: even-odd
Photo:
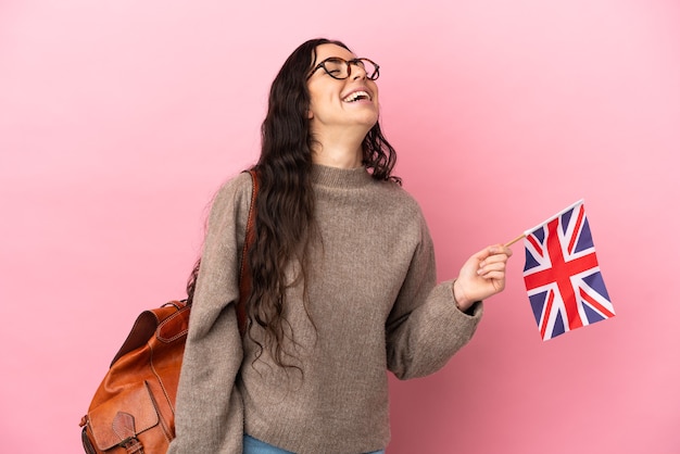
[[[525,285],[545,341],[614,317],[583,201],[525,232]]]

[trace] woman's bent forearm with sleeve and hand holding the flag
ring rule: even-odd
[[[443,367],[473,337],[481,300],[503,290],[512,251],[486,248],[463,265],[457,279],[436,283],[435,251],[425,220],[387,329],[388,368],[400,379]]]

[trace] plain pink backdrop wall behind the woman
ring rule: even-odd
[[[0,2],[0,451],[80,452],[137,314],[182,297],[303,40],[380,63],[440,278],[580,198],[617,311],[542,342],[507,290],[439,374],[391,380],[390,454],[680,452],[676,0]]]

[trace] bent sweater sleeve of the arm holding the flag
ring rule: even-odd
[[[400,379],[423,377],[442,368],[473,337],[482,304],[457,308],[453,281],[436,285],[435,249],[420,216],[419,243],[387,321],[388,368]]]

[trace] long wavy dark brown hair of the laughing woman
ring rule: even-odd
[[[295,367],[285,361],[284,340],[292,339],[286,320],[287,287],[298,282],[304,286],[307,304],[306,261],[310,242],[316,232],[314,192],[310,178],[314,137],[310,130],[307,109],[310,92],[306,79],[316,63],[316,48],[332,43],[349,48],[336,40],[312,39],[302,43],[286,60],[272,83],[267,115],[262,124],[262,152],[254,169],[260,192],[256,200],[255,240],[249,251],[253,289],[247,302],[248,336],[256,324],[264,331],[264,343],[277,365]],[[373,178],[393,180],[396,153],[376,123],[362,143],[363,164]],[[291,263],[299,264],[300,275],[294,282],[286,278]],[[200,261],[187,283],[188,300],[193,298]],[[307,312],[308,314],[308,312]],[[312,320],[313,323],[313,320]],[[290,356],[289,356],[290,357]]]

